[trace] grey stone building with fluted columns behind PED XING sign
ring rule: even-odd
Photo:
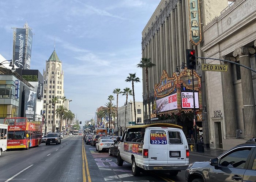
[[[256,1],[236,0],[204,29],[202,51],[207,58],[230,60],[256,70]],[[206,72],[210,144],[229,149],[243,138],[256,137],[256,73],[236,64],[227,72]],[[240,139],[239,139],[240,138]]]

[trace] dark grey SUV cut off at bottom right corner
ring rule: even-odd
[[[256,181],[255,140],[233,147],[210,162],[191,163],[186,170],[186,181]]]

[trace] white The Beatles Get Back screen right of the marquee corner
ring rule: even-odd
[[[194,108],[193,92],[181,92],[181,107]],[[195,92],[195,108],[199,108],[198,92]]]

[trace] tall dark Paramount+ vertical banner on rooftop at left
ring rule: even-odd
[[[18,68],[25,68],[26,29],[17,28],[14,46],[14,64]]]

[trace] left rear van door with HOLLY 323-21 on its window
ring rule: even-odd
[[[150,129],[149,164],[167,164],[168,149],[165,129]]]

